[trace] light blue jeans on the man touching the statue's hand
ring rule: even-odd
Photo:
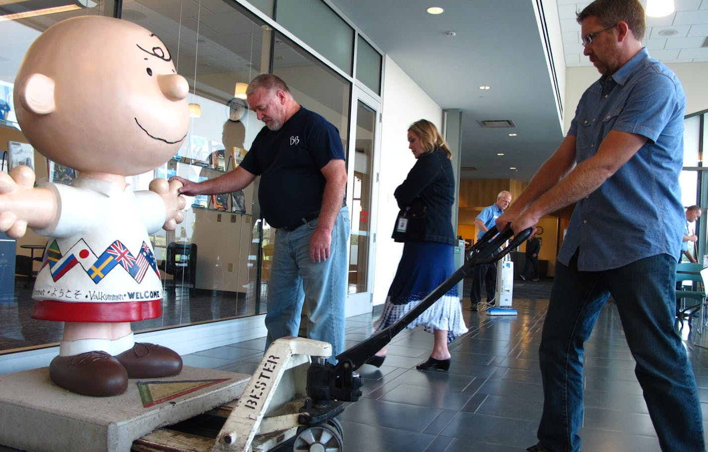
[[[312,262],[309,248],[319,219],[295,231],[275,231],[273,267],[268,284],[265,348],[280,337],[297,336],[302,303],[307,303],[310,339],[332,344],[333,355],[344,350],[344,303],[349,275],[347,239],[350,231],[349,209],[345,206],[332,229],[329,259]],[[333,358],[330,359],[334,362]]]

